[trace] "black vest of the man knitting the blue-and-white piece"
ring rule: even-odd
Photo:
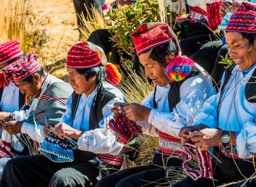
[[[99,84],[98,90],[96,93],[96,96],[94,97],[94,100],[92,101],[91,109],[90,109],[90,115],[89,115],[89,130],[98,129],[99,122],[103,118],[102,114],[102,108],[106,103],[109,103],[109,101],[115,99],[115,95],[106,88],[102,86],[102,84]],[[77,95],[75,92],[72,93],[72,106],[71,106],[71,116],[72,120],[74,120],[76,116],[76,109],[79,105],[81,95]]]

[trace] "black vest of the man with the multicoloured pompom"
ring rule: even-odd
[[[177,103],[180,102],[180,86],[182,86],[183,82],[188,80],[189,78],[192,78],[197,75],[203,75],[197,67],[193,68],[190,75],[188,75],[184,80],[179,82],[173,82],[170,84],[171,88],[168,92],[168,103],[169,103],[169,109],[170,112],[173,112],[173,107],[177,105]],[[157,103],[156,103],[156,88],[154,90],[154,97],[153,97],[153,107],[157,109]]]

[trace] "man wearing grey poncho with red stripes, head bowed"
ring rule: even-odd
[[[3,123],[1,167],[14,156],[33,154],[33,143],[26,141],[26,135],[33,141],[43,141],[44,124],[54,126],[59,122],[66,111],[66,100],[72,93],[68,83],[44,71],[33,52],[3,68],[3,73],[20,92],[30,97],[27,103],[31,105],[27,119],[11,118]]]

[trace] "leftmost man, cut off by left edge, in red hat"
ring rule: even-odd
[[[23,120],[28,117],[26,97],[13,82],[6,80],[2,69],[24,56],[20,41],[13,40],[0,44],[0,124],[10,120]],[[12,105],[10,105],[12,103]],[[1,129],[2,131],[2,129]]]

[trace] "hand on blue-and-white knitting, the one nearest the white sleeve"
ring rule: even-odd
[[[83,134],[83,131],[78,131],[76,129],[73,129],[68,124],[63,123],[56,124],[53,133],[61,139],[64,139],[65,137],[68,137],[70,139],[79,139],[79,137],[81,137],[81,135]]]

